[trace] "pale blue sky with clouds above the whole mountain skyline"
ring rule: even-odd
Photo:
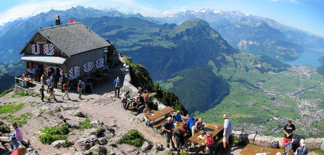
[[[324,36],[324,1],[321,0],[11,0],[0,2],[0,25],[50,9],[65,10],[81,5],[86,8],[115,9],[143,16],[167,16],[186,10],[214,9],[240,11]]]

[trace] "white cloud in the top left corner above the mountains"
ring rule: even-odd
[[[4,25],[8,21],[13,21],[18,18],[27,18],[30,16],[37,15],[42,12],[48,12],[51,9],[55,10],[66,10],[71,7],[76,7],[79,3],[85,2],[81,0],[74,1],[45,1],[45,2],[28,2],[21,4],[17,7],[11,8],[6,12],[0,14],[0,25]]]

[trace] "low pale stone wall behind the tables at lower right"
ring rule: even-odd
[[[240,131],[233,131],[232,134],[235,137],[239,137]],[[241,140],[245,143],[255,143],[260,146],[271,147],[273,141],[279,141],[279,146],[282,147],[284,138],[271,137],[271,136],[261,136],[256,134],[243,133],[241,135]],[[294,141],[294,139],[293,139]],[[306,138],[305,144],[308,148],[320,148],[321,143],[324,142],[324,138]]]

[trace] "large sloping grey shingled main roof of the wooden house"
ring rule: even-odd
[[[37,32],[47,37],[68,56],[110,46],[102,37],[80,22],[38,29]]]

